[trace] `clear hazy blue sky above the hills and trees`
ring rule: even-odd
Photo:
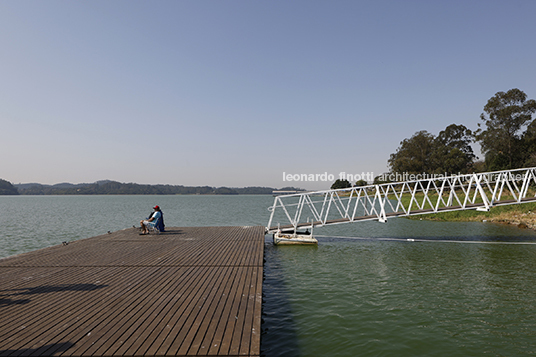
[[[417,131],[475,130],[500,91],[536,98],[534,14],[533,0],[3,0],[0,178],[379,175]],[[300,174],[315,180],[285,179]]]

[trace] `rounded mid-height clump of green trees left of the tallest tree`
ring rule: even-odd
[[[476,158],[473,133],[463,125],[451,124],[437,137],[422,130],[400,142],[389,158],[390,171],[408,174],[457,174],[471,170]]]

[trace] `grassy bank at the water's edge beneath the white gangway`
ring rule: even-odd
[[[411,216],[409,219],[450,221],[450,222],[495,222],[515,224],[521,227],[536,229],[536,203],[523,203],[508,206],[492,207],[489,212],[477,210],[442,212]]]

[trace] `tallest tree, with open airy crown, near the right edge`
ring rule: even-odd
[[[523,165],[520,131],[532,120],[536,101],[517,89],[498,92],[488,100],[480,119],[485,128],[476,132],[488,170],[513,169]]]

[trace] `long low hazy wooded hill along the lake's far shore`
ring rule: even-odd
[[[14,188],[21,195],[271,195],[273,191],[283,190],[271,187],[216,188],[210,186],[141,185],[110,180],[55,185],[26,183],[14,185]],[[285,187],[284,189],[304,191],[293,187]]]

